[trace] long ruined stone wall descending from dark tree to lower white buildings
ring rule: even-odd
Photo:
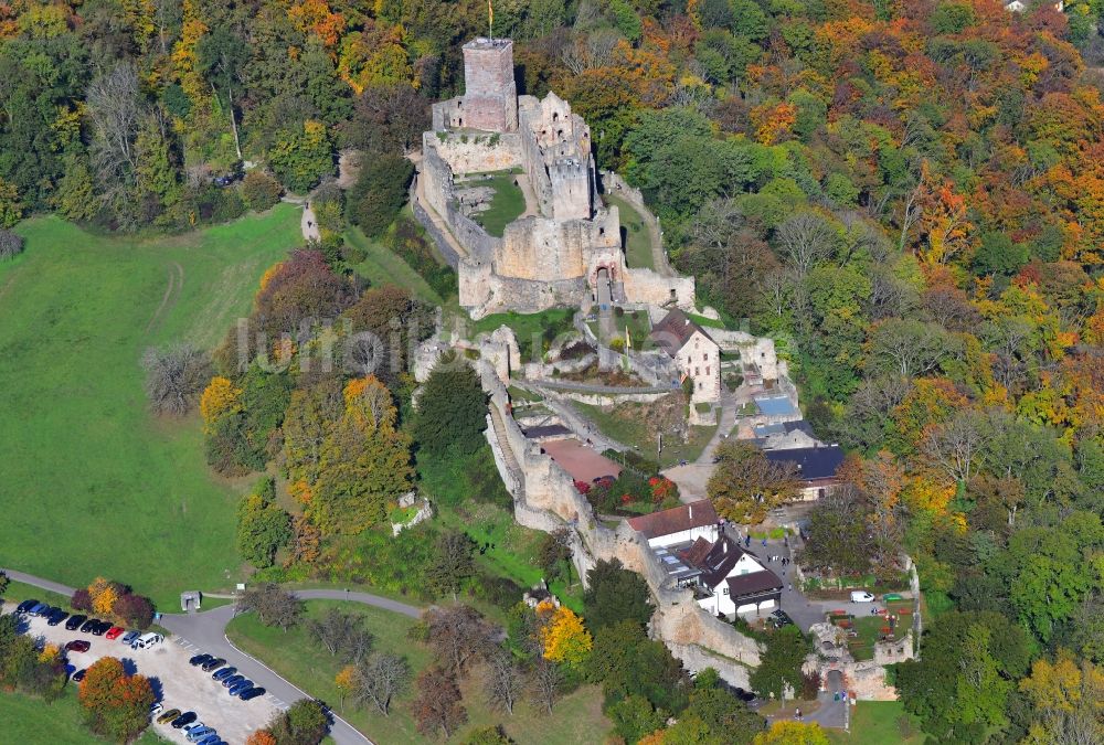
[[[511,493],[518,521],[544,531],[564,523],[573,526],[580,539],[573,553],[587,556],[576,556],[576,565],[617,558],[627,568],[640,573],[656,600],[652,635],[664,640],[671,653],[691,670],[713,667],[731,684],[746,688],[750,668],[760,661],[758,645],[700,608],[689,589],[671,587],[659,560],[628,523],[622,522],[614,531],[597,522],[571,477],[549,456],[542,455],[538,445],[526,439],[509,414],[509,394],[493,369],[482,361],[478,368],[484,390],[490,393],[490,406],[495,409],[489,417],[491,426],[487,436],[499,468],[507,477],[507,486],[512,485],[516,489]],[[501,427],[493,426],[496,418]],[[500,444],[499,436],[506,441]],[[507,462],[509,458],[503,447],[517,458],[516,469]],[[585,573],[582,576],[585,577]]]

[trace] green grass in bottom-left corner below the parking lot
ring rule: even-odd
[[[50,745],[88,745],[106,743],[92,734],[81,722],[76,689],[53,703],[21,693],[0,692],[0,743],[50,743]],[[147,730],[137,745],[164,742]]]

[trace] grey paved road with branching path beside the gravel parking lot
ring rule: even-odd
[[[73,587],[62,585],[50,579],[43,579],[24,572],[14,570],[2,570],[4,574],[14,579],[34,587],[49,589],[53,593],[70,596],[74,593]],[[363,603],[376,608],[383,608],[392,613],[417,618],[422,615],[422,609],[388,597],[380,597],[369,593],[353,593],[341,589],[304,589],[296,590],[296,595],[304,600],[348,600],[350,603]],[[263,685],[268,694],[273,696],[280,709],[287,709],[293,702],[299,699],[311,698],[309,693],[288,682],[266,664],[238,650],[226,638],[226,625],[234,618],[235,608],[233,605],[224,605],[212,610],[193,614],[163,614],[160,624],[173,632],[174,637],[169,643],[176,643],[184,649],[203,651],[217,657],[225,658],[238,671]],[[338,745],[364,745],[372,741],[358,732],[337,714],[333,715],[333,724],[330,727],[330,736]]]

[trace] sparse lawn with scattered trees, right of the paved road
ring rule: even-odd
[[[413,619],[380,608],[337,600],[310,600],[307,603],[307,613],[316,616],[331,606],[361,615],[365,627],[375,635],[374,649],[405,656],[415,674],[429,663],[429,651],[407,638],[407,632],[414,625]],[[426,742],[417,733],[408,713],[414,698],[413,685],[393,703],[390,716],[383,716],[374,709],[351,705],[347,705],[342,712],[341,695],[333,684],[333,678],[342,663],[311,639],[302,625],[284,634],[279,629],[262,626],[254,614],[246,614],[231,621],[227,636],[244,651],[263,660],[311,695],[335,706],[346,721],[373,741]],[[602,695],[593,687],[584,687],[564,698],[553,710],[552,716],[542,716],[528,703],[518,705],[513,716],[509,716],[488,709],[486,698],[475,681],[477,675],[478,673],[473,673],[461,685],[468,723],[448,739],[449,743],[463,742],[464,736],[473,728],[492,724],[502,724],[507,734],[519,745],[599,742],[611,727],[602,715]]]

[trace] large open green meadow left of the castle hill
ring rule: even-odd
[[[0,263],[0,565],[81,586],[125,582],[171,608],[236,579],[236,494],[206,466],[199,417],[146,408],[150,345],[216,344],[261,275],[301,243],[299,214],[158,240],[55,217]]]

